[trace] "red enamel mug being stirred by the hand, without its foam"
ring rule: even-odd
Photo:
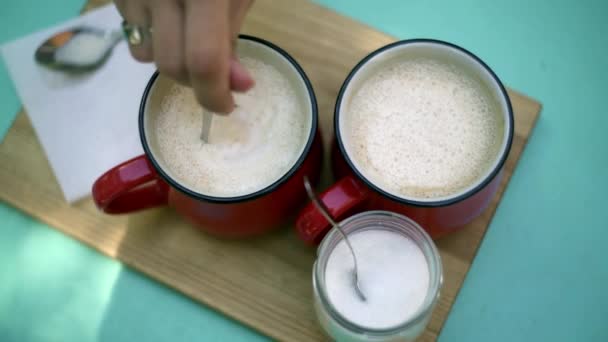
[[[155,73],[144,91],[139,110],[139,134],[145,154],[103,174],[93,185],[96,205],[108,214],[130,213],[169,205],[203,231],[222,237],[248,237],[267,232],[293,217],[305,202],[304,175],[318,181],[322,146],[315,95],[308,77],[287,52],[260,38],[241,35],[265,62],[277,66],[296,84],[304,99],[306,144],[295,164],[265,188],[236,197],[214,197],[188,188],[171,176],[149,138],[150,120],[160,110],[161,99],[173,84]]]

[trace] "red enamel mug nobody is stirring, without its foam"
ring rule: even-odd
[[[467,72],[487,87],[504,118],[500,149],[487,172],[464,190],[438,199],[421,200],[398,196],[371,181],[353,162],[341,134],[344,124],[344,116],[341,115],[343,105],[354,92],[353,89],[358,89],[364,82],[365,75],[373,74],[379,63],[393,58],[407,58],[412,53],[439,56],[459,68],[466,68]],[[442,237],[462,228],[480,215],[490,203],[502,178],[502,169],[511,149],[513,130],[513,110],[509,96],[496,74],[477,56],[454,44],[431,39],[403,40],[389,44],[359,62],[340,89],[334,111],[335,139],[332,148],[332,167],[338,181],[321,194],[321,199],[337,220],[365,210],[387,210],[412,218],[435,239]],[[309,204],[300,212],[296,228],[304,241],[316,244],[330,226]]]

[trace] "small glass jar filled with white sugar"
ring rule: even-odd
[[[387,211],[363,212],[332,229],[313,268],[314,304],[325,332],[337,341],[413,341],[424,331],[443,281],[439,252],[413,220]]]

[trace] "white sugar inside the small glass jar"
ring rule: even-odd
[[[403,324],[420,309],[430,284],[422,250],[409,238],[386,230],[349,235],[357,255],[359,281],[366,301],[353,288],[353,261],[344,241],[329,255],[327,296],[336,310],[358,325],[386,329]]]

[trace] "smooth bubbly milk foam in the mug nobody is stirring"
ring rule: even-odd
[[[349,156],[399,197],[435,199],[476,183],[499,154],[504,119],[481,82],[443,61],[389,63],[346,103]]]

